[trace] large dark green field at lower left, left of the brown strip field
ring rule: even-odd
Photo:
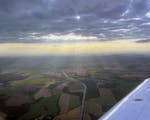
[[[32,120],[43,115],[56,116],[59,113],[60,95],[51,96],[41,99],[30,105],[29,111],[23,115],[19,120]]]

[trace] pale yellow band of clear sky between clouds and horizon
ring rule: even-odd
[[[5,43],[0,46],[0,56],[47,56],[47,55],[106,55],[147,54],[150,43],[134,41],[67,42],[67,43]]]

